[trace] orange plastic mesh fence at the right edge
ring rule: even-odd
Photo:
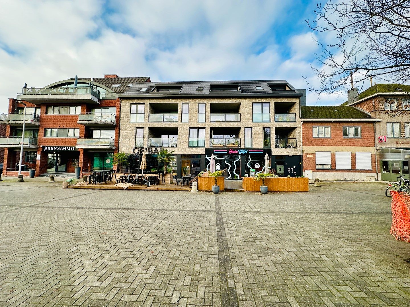
[[[392,228],[397,239],[410,242],[410,194],[392,191]]]

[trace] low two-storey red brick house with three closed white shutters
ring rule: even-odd
[[[301,106],[303,172],[321,180],[376,180],[374,125],[349,106]]]

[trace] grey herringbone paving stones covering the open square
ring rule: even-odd
[[[0,306],[410,306],[410,244],[389,234],[383,183],[60,186],[0,182]]]

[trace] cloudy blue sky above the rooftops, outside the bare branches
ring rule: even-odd
[[[23,84],[74,77],[286,79],[306,88],[316,43],[307,0],[0,0],[0,111]],[[308,104],[344,97],[308,94]]]

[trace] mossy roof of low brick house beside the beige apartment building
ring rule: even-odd
[[[301,106],[301,118],[369,118],[352,106]]]

